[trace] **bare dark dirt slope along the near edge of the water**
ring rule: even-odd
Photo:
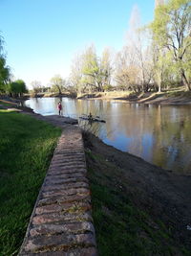
[[[165,171],[127,152],[117,151],[91,136],[87,146],[115,164],[116,182],[138,208],[161,220],[180,244],[191,249],[191,175]]]

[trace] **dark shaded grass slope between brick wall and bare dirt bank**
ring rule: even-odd
[[[86,160],[100,256],[190,255],[164,223],[138,208],[116,165],[93,151]]]

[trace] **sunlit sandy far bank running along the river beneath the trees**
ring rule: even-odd
[[[145,92],[133,93],[131,91],[109,91],[83,93],[77,96],[70,93],[38,93],[32,97],[30,94],[24,94],[22,97],[12,98],[1,96],[0,101],[6,100],[13,103],[22,103],[30,98],[63,98],[69,97],[77,100],[106,100],[117,101],[127,104],[143,104],[143,105],[191,105],[191,92],[180,89],[172,89],[162,92]]]

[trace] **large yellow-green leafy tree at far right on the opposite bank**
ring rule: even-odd
[[[151,24],[153,38],[159,48],[171,55],[176,72],[180,73],[186,90],[191,90],[187,73],[191,66],[187,58],[191,51],[191,4],[189,0],[170,0],[159,5]],[[163,51],[161,50],[161,51]]]

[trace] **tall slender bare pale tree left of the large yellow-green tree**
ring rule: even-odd
[[[134,89],[137,91],[148,91],[153,76],[152,58],[150,47],[148,46],[150,42],[148,40],[147,32],[143,29],[140,30],[139,28],[140,14],[138,6],[136,5],[131,12],[126,46],[122,50],[122,52],[127,52],[125,55],[127,58],[131,57],[131,61],[128,61],[127,59],[126,62],[129,63],[126,64],[126,67],[123,67],[122,72],[119,73],[121,78],[125,78],[125,71],[126,75],[128,75],[128,79],[130,79],[131,76],[131,81],[133,81],[132,76],[136,73],[137,79],[134,80],[134,82],[136,81],[137,85],[134,84]],[[124,58],[125,55],[122,55]]]

